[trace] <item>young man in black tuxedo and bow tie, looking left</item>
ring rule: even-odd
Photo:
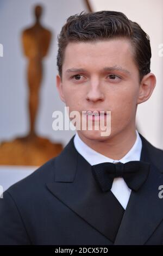
[[[109,111],[111,132],[78,130],[58,157],[11,186],[0,200],[0,243],[161,245],[163,151],[135,127],[156,83],[148,35],[122,13],[99,11],[69,17],[58,40],[61,100],[93,124]]]

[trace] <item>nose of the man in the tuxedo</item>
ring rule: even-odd
[[[102,88],[100,86],[100,82],[98,81],[92,81],[90,83],[89,91],[86,95],[87,101],[103,101],[104,100],[104,93],[102,92]]]

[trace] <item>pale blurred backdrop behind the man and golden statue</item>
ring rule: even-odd
[[[59,98],[55,84],[57,36],[67,17],[83,10],[86,12],[121,11],[130,20],[139,23],[149,35],[152,47],[151,71],[156,75],[157,83],[151,98],[138,106],[136,123],[137,130],[149,142],[155,147],[163,149],[163,57],[161,57],[163,54],[159,54],[161,44],[163,44],[162,0],[0,0],[0,44],[3,45],[3,57],[0,54],[0,142],[13,142],[17,137],[23,138],[30,129],[27,108],[29,97],[28,60],[24,56],[22,31],[34,25],[36,5],[43,7],[42,26],[52,33],[48,52],[42,62],[43,77],[35,122],[37,135],[46,138],[46,141],[43,141],[42,149],[46,150],[45,144],[50,143],[58,145],[60,151],[75,134],[75,131],[54,131],[52,129],[52,113],[55,110],[64,112],[65,107]],[[9,145],[12,146],[12,144]],[[8,147],[10,147],[9,145]],[[2,145],[0,146],[2,147]],[[10,147],[10,150],[15,151],[14,146]],[[59,151],[56,151],[56,154]],[[5,157],[7,154],[8,151],[5,151]],[[26,155],[26,150],[17,154]],[[1,156],[0,149],[0,159],[5,157]],[[10,159],[10,154],[8,154],[8,159]],[[9,164],[3,161],[0,164],[0,185],[4,190],[17,180],[32,173],[40,165],[37,162],[31,164],[30,161],[29,164],[10,164],[10,161]]]

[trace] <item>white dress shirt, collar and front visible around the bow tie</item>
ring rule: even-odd
[[[89,162],[92,165],[98,164],[98,163],[104,163],[104,162],[122,162],[126,163],[129,161],[140,161],[140,155],[141,155],[141,149],[142,149],[142,141],[139,136],[139,133],[136,130],[136,141],[133,145],[133,147],[128,151],[128,153],[122,157],[120,160],[113,160],[109,157],[106,157],[97,151],[90,148],[88,145],[86,145],[82,139],[80,139],[78,133],[74,136],[74,146],[77,149],[78,153],[84,157],[84,159]],[[115,178],[112,187],[111,192],[114,194],[114,196],[117,198],[117,200],[121,203],[124,209],[126,209],[128,200],[130,197],[131,190],[127,186],[126,182],[123,178]]]

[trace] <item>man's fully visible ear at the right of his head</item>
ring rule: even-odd
[[[145,102],[151,97],[153,90],[156,85],[156,77],[152,73],[148,73],[147,75],[143,76],[140,89],[139,89],[139,96],[137,98],[137,104]]]

